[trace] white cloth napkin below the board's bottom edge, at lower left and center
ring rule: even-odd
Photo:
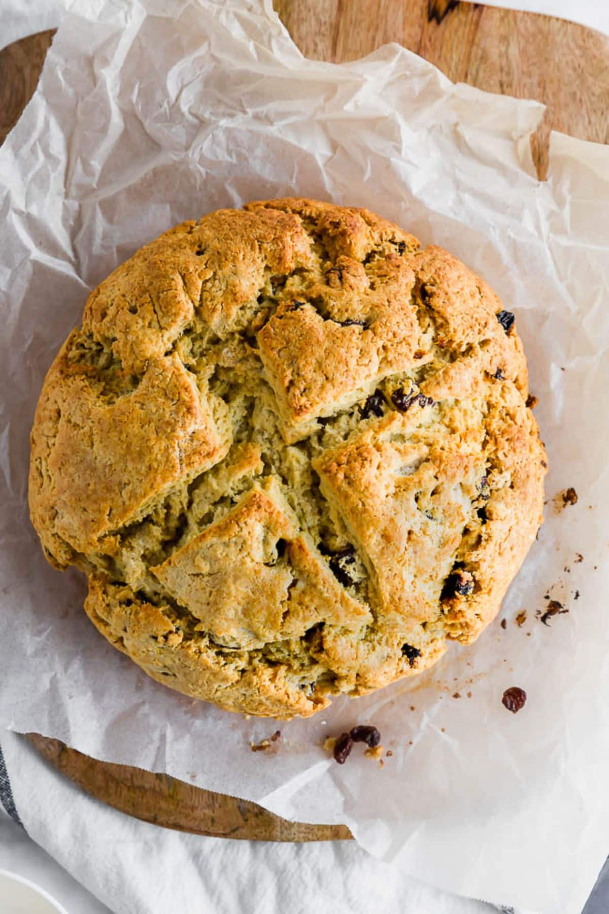
[[[352,841],[233,841],[140,822],[90,799],[47,765],[23,737],[4,731],[0,739],[14,808],[27,834],[114,914],[502,910],[426,886],[375,860]],[[53,890],[47,883],[44,887]],[[98,914],[98,909],[73,908],[69,914]]]

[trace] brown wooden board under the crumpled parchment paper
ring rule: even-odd
[[[275,0],[275,8],[309,58],[341,63],[399,41],[455,82],[543,101],[548,111],[531,142],[540,177],[551,129],[609,143],[609,38],[589,28],[458,0]],[[42,32],[0,52],[0,142],[36,88],[52,37]],[[252,802],[89,759],[56,739],[28,739],[83,790],[147,822],[264,841],[351,836],[342,825],[290,823]]]

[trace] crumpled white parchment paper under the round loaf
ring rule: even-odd
[[[554,134],[540,184],[542,112],[396,45],[306,60],[269,0],[73,6],[0,150],[0,725],[349,824],[446,889],[581,910],[609,850],[609,149]],[[28,432],[47,367],[114,266],[185,218],[289,194],[370,207],[499,292],[540,398],[549,504],[505,630],[453,646],[415,684],[283,723],[277,751],[252,753],[272,721],[153,683],[86,619],[79,574],[47,566],[27,518]],[[567,486],[579,500],[558,514]],[[545,594],[569,610],[550,627]],[[509,685],[529,695],[517,716]],[[393,755],[338,766],[321,741],[364,720]]]

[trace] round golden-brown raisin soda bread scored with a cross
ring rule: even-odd
[[[184,222],[90,294],[32,431],[34,526],[154,679],[307,717],[478,637],[541,524],[514,316],[366,209]]]

